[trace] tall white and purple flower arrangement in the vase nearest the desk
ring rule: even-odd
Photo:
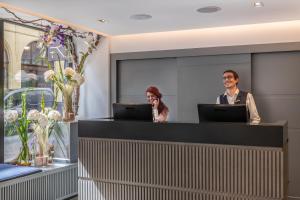
[[[80,37],[86,39],[85,43],[88,45],[86,52],[80,52],[80,59],[78,59],[76,48],[73,42],[73,37]],[[59,69],[55,70],[50,62],[48,63],[49,70],[45,72],[45,81],[52,81],[56,87],[62,92],[64,99],[64,121],[72,121],[75,118],[78,110],[80,85],[84,83],[84,64],[87,57],[99,45],[100,36],[92,33],[87,33],[84,37],[78,35],[70,27],[62,25],[53,25],[46,28],[45,34],[41,37],[41,57],[47,59],[46,53],[52,46],[64,46],[67,57],[72,60],[73,67],[63,67],[60,62],[60,55],[56,54],[59,59]],[[73,93],[75,92],[75,103],[73,102]],[[73,111],[73,104],[75,111]]]

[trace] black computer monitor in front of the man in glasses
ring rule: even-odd
[[[199,122],[247,122],[245,104],[198,104]]]

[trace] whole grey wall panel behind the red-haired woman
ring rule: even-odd
[[[145,90],[157,86],[169,107],[169,120],[177,120],[177,64],[175,58],[120,61],[118,102],[146,103]]]

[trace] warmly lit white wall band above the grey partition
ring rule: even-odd
[[[300,20],[113,36],[111,37],[111,53],[299,41]]]

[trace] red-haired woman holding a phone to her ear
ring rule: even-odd
[[[167,122],[169,109],[162,102],[162,94],[155,86],[150,86],[146,90],[146,96],[148,103],[152,104],[153,108],[153,121],[154,122]]]

